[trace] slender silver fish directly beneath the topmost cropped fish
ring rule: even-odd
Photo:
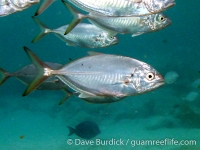
[[[170,19],[161,13],[139,17],[108,17],[94,13],[83,15],[67,2],[64,2],[64,4],[74,15],[74,20],[68,26],[65,34],[69,33],[84,18],[88,18],[90,22],[102,30],[107,30],[110,36],[117,33],[137,36],[161,30],[171,24]]]

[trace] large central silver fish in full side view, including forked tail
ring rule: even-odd
[[[27,47],[24,47],[24,50],[39,73],[23,96],[29,94],[52,75],[57,75],[61,81],[76,91],[79,98],[89,99],[92,103],[101,103],[96,102],[95,97],[98,97],[97,100],[103,99],[104,103],[109,103],[116,98],[120,100],[127,96],[145,93],[164,84],[162,75],[153,67],[129,57],[91,55],[53,70]],[[111,99],[105,101],[105,97],[111,97]]]

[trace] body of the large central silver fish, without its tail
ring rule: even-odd
[[[155,80],[162,80],[160,74],[144,62],[107,54],[81,58],[55,73],[61,74],[62,78],[58,78],[75,91],[97,96],[124,97],[151,90],[157,82],[155,85],[146,82],[148,73],[154,74]]]

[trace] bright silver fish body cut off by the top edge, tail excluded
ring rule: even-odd
[[[87,12],[106,16],[142,16],[158,13],[175,5],[174,0],[68,0]]]

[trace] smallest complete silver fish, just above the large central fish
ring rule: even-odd
[[[40,27],[41,32],[33,39],[32,43],[37,42],[48,33],[54,33],[69,46],[101,48],[117,44],[119,41],[116,36],[109,36],[108,32],[92,24],[78,24],[69,34],[64,35],[68,25],[51,30],[36,17],[33,19]]]

